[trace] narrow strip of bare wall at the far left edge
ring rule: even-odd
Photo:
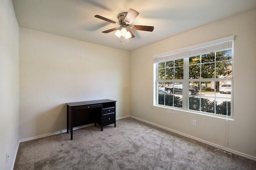
[[[20,139],[19,26],[11,0],[0,1],[0,108],[0,169],[9,170]]]

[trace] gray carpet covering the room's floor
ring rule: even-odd
[[[256,170],[256,161],[133,118],[20,143],[14,170]]]

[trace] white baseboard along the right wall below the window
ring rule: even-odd
[[[145,120],[143,120],[143,119],[140,119],[140,118],[137,118],[137,117],[134,117],[134,116],[130,116],[130,117],[132,117],[132,118],[134,118],[134,119],[137,119],[137,120],[139,120],[139,121],[148,123],[148,124],[150,124],[150,125],[154,125],[154,126],[156,126],[156,127],[160,127],[160,128],[166,129],[166,130],[168,130],[168,131],[170,131],[170,132],[174,132],[174,133],[176,133],[176,134],[180,134],[180,135],[182,135],[182,136],[186,136],[186,137],[188,137],[188,138],[197,140],[197,141],[199,141],[199,142],[203,142],[203,143],[205,143],[205,144],[209,144],[209,145],[214,146],[214,147],[216,147],[216,148],[222,149],[222,150],[224,150],[224,151],[226,151],[226,152],[230,152],[230,153],[233,153],[233,154],[237,154],[237,155],[239,155],[239,156],[243,156],[243,157],[245,157],[245,158],[248,158],[248,159],[251,159],[251,160],[255,160],[255,161],[256,161],[256,157],[253,157],[253,156],[250,156],[250,155],[241,153],[241,152],[237,152],[237,151],[235,151],[235,150],[231,150],[231,149],[225,148],[225,147],[223,147],[223,146],[219,146],[219,145],[217,145],[217,144],[214,144],[214,143],[211,143],[211,142],[207,142],[207,141],[202,140],[202,139],[199,139],[199,138],[195,138],[195,137],[193,137],[193,136],[189,136],[189,135],[187,135],[187,134],[184,134],[184,133],[178,132],[178,131],[176,131],[176,130],[172,130],[172,129],[170,129],[170,128],[166,128],[166,127],[157,125],[157,124],[155,124],[155,123],[151,123],[151,122],[149,122],[149,121],[145,121]]]

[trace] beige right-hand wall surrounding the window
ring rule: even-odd
[[[256,158],[256,10],[131,52],[131,115]],[[170,30],[171,31],[171,30]],[[152,55],[227,36],[234,41],[234,121],[153,106]],[[197,126],[192,126],[192,120]],[[228,123],[228,130],[226,130]],[[226,144],[226,132],[228,141]]]

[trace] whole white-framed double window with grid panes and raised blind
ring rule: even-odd
[[[234,36],[154,56],[154,105],[233,117]]]

